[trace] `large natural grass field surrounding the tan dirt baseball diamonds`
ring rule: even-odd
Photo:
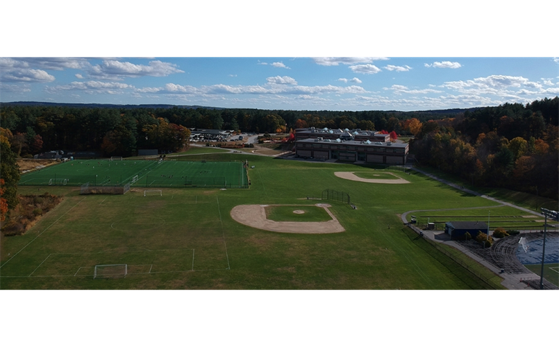
[[[42,192],[64,194],[65,201],[26,235],[3,237],[0,289],[487,288],[401,227],[399,215],[409,210],[487,208],[492,201],[413,172],[406,174],[410,184],[383,185],[334,175],[369,170],[353,164],[229,153],[203,158],[248,159],[255,165],[249,169],[250,188],[164,188],[162,196],[144,197],[144,188],[125,195],[80,196],[78,187],[42,187]],[[276,233],[244,226],[230,216],[236,205],[307,204],[301,199],[320,196],[324,189],[351,194],[356,210],[328,201],[345,232]],[[20,194],[36,191],[33,186],[19,187]],[[296,216],[294,207],[307,208],[278,208],[272,213],[280,217],[274,218],[322,218],[314,213]],[[128,264],[128,276],[94,280],[94,266],[100,264]]]

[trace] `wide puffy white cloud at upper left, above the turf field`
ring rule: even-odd
[[[176,68],[176,64],[153,60],[149,65],[137,65],[131,62],[120,62],[118,60],[104,60],[101,65],[95,65],[90,69],[90,75],[97,78],[122,79],[124,76],[169,76],[184,72]]]

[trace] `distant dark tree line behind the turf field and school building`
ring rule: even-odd
[[[287,133],[295,128],[361,128],[403,132],[401,121],[440,119],[439,113],[292,111],[210,108],[87,108],[0,106],[1,133],[21,157],[42,151],[103,151],[134,155],[137,149],[180,151],[188,128]]]

